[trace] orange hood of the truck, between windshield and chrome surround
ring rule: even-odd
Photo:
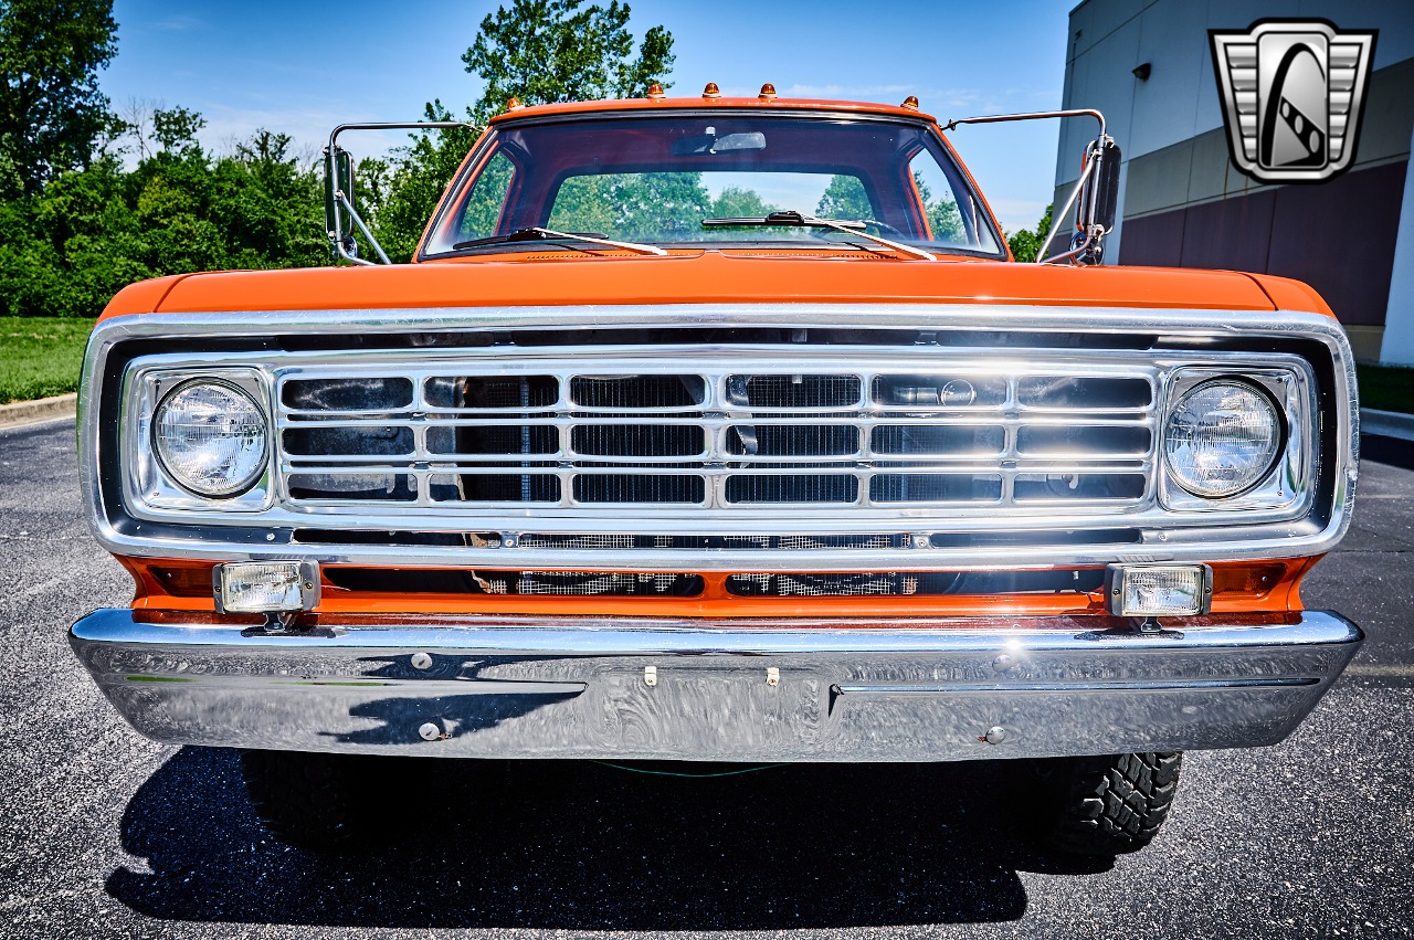
[[[1299,281],[1237,271],[703,252],[536,253],[380,267],[177,274],[120,291],[103,318],[147,312],[612,304],[967,302],[1212,310],[1329,308]]]

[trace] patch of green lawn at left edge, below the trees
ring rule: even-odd
[[[79,389],[92,319],[0,317],[0,404]]]

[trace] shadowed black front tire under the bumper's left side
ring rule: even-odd
[[[321,852],[378,844],[390,834],[389,786],[397,765],[420,760],[303,751],[242,751],[240,773],[256,816],[281,842]]]

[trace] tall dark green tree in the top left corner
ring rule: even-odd
[[[0,0],[0,196],[90,163],[115,122],[98,72],[116,30],[112,0]]]

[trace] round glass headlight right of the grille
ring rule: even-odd
[[[1236,379],[1205,382],[1168,414],[1164,452],[1178,485],[1208,499],[1256,486],[1281,450],[1277,406]]]

